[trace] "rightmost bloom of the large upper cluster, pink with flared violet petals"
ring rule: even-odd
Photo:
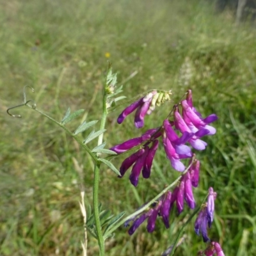
[[[194,125],[196,129],[207,129],[209,130],[208,135],[213,135],[216,133],[216,129],[211,125],[208,125],[218,119],[218,117],[215,114],[209,115],[206,118],[202,119],[189,106],[187,100],[182,100],[181,106],[182,106],[182,116],[185,122],[188,124],[188,126],[193,127]],[[191,129],[191,131],[195,132],[195,129],[193,128]]]

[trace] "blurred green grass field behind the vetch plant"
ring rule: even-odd
[[[28,108],[6,109],[27,98],[61,120],[68,107],[86,109],[83,118],[100,117],[100,96],[108,61],[134,97],[150,88],[171,90],[173,102],[191,88],[204,116],[216,113],[217,134],[205,138],[200,202],[212,186],[218,193],[209,236],[220,241],[226,256],[256,255],[256,31],[252,24],[234,24],[229,11],[217,15],[211,1],[1,1],[0,2],[0,255],[81,255],[83,219],[80,184],[86,205],[92,204],[92,162],[59,127]],[[130,77],[131,74],[136,74]],[[147,116],[146,129],[168,115],[168,104]],[[141,134],[132,117],[116,124],[122,111],[108,117],[109,147]],[[68,125],[76,129],[79,119]],[[93,143],[92,143],[93,147]],[[120,166],[122,159],[113,163]],[[117,179],[102,168],[100,202],[115,214],[129,213],[177,177],[158,150],[152,177],[132,188],[129,175]],[[119,228],[106,242],[106,255],[161,255],[191,211],[171,227],[161,221],[147,234],[145,225],[129,237]],[[175,255],[204,250],[193,223]],[[97,255],[89,236],[88,255]]]

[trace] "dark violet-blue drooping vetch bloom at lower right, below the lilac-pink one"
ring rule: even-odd
[[[207,207],[203,207],[202,210],[198,213],[198,216],[195,221],[195,232],[199,236],[200,232],[202,233],[202,237],[204,243],[210,241],[209,237],[207,236]]]

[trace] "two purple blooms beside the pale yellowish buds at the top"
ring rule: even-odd
[[[133,102],[130,106],[125,108],[124,111],[117,118],[118,124],[122,124],[126,116],[130,115],[135,109],[137,109],[134,118],[134,125],[136,126],[136,128],[143,127],[144,117],[147,114],[147,111],[150,108],[150,103],[156,93],[157,91],[150,92],[145,97],[136,100],[136,102]]]

